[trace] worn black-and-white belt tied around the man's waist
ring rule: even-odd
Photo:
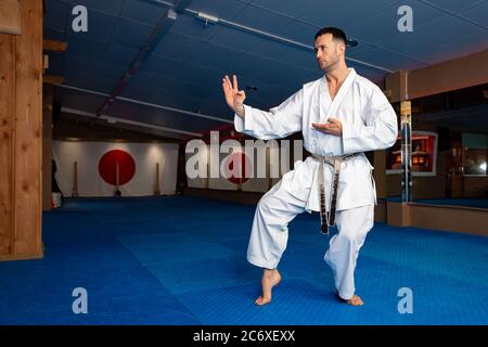
[[[335,211],[337,207],[337,190],[341,175],[341,164],[361,155],[361,153],[352,153],[342,156],[321,156],[312,154],[313,158],[320,162],[319,166],[319,190],[320,190],[320,231],[323,234],[329,234],[329,227],[335,226]],[[324,176],[324,165],[329,164],[333,167],[332,174],[332,184],[331,184],[331,197],[330,197],[330,206],[331,210],[326,210],[325,206],[325,184],[323,181]]]

